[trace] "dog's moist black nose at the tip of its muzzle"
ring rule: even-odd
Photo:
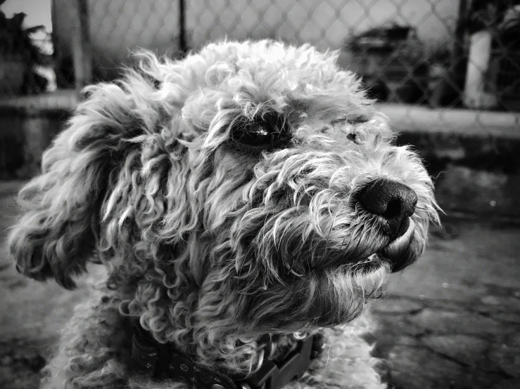
[[[397,239],[410,225],[409,217],[415,211],[417,194],[402,183],[379,178],[357,193],[357,201],[365,211],[381,216],[383,233]]]

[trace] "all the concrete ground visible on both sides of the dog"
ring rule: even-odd
[[[0,234],[18,182],[0,181]],[[446,219],[372,311],[398,389],[520,388],[520,225]],[[20,277],[0,251],[0,388],[37,388],[58,329],[87,289]]]

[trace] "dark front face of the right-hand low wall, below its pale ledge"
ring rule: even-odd
[[[520,139],[402,132],[435,180],[439,205],[448,213],[520,217]]]

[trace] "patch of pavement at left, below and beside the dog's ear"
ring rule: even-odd
[[[0,389],[36,389],[38,372],[59,329],[86,293],[22,277],[6,263],[4,239],[17,214],[13,192],[21,182],[0,181]]]

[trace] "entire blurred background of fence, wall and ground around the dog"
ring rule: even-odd
[[[424,158],[445,211],[424,258],[374,306],[386,379],[519,387],[520,0],[0,0],[0,11],[1,231],[82,87],[118,77],[135,48],[182,58],[227,37],[338,50],[397,142]],[[35,388],[84,292],[1,261],[0,387]]]

